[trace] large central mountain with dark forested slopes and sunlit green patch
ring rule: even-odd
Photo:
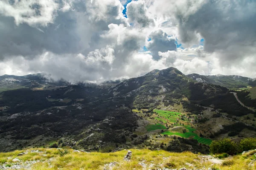
[[[0,151],[55,142],[88,151],[158,148],[163,139],[152,141],[153,136],[177,135],[185,138],[178,141],[179,151],[208,153],[214,139],[256,136],[256,113],[227,88],[195,81],[172,67],[101,85],[52,82],[40,75],[5,79],[27,84],[0,93]]]

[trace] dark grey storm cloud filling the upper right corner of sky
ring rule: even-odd
[[[255,53],[256,1],[209,0],[194,14],[177,12],[180,40],[197,42],[199,33],[204,50],[221,53],[223,61],[236,61]]]

